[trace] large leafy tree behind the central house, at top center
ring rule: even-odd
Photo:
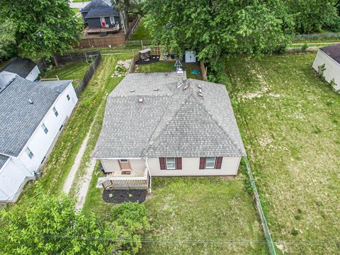
[[[290,42],[293,20],[279,0],[146,0],[155,44],[198,50],[215,68],[220,55],[261,54]]]

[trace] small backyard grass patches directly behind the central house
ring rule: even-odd
[[[151,64],[137,64],[135,67],[136,72],[173,72],[175,71],[174,61],[159,61]],[[184,63],[183,69],[186,70],[186,77],[188,79],[200,79],[203,77],[201,74],[193,74],[193,70],[200,71],[200,63]]]

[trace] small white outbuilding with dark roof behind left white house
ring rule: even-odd
[[[35,81],[40,74],[40,70],[32,60],[23,57],[13,57],[4,69],[0,71],[0,87],[5,86],[16,75]]]

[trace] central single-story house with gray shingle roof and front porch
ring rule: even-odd
[[[108,96],[92,158],[104,188],[150,176],[235,176],[246,151],[224,85],[186,72],[128,74]]]

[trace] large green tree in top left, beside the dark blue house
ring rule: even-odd
[[[52,57],[80,39],[82,24],[67,0],[1,0],[0,9],[16,24],[22,55]]]

